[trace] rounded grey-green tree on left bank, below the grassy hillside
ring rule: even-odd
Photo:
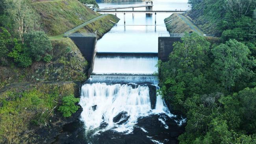
[[[50,39],[43,31],[32,31],[24,35],[24,43],[30,48],[35,61],[40,61],[46,52],[52,50]]]

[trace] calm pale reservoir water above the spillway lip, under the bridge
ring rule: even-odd
[[[144,5],[145,2],[98,3],[100,8]],[[153,0],[153,10],[187,10],[187,0]],[[129,10],[132,9],[121,9]],[[145,10],[145,7],[134,10]],[[118,13],[120,21],[97,42],[98,52],[158,52],[158,36],[166,34],[164,19],[172,13],[157,13],[157,26],[124,26],[124,14]],[[126,13],[126,25],[154,25],[155,15]]]

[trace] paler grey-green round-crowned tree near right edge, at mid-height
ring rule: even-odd
[[[230,91],[235,81],[245,71],[249,70],[250,50],[245,44],[236,40],[229,40],[226,44],[220,44],[212,49],[214,62],[211,65],[217,79],[223,87]]]

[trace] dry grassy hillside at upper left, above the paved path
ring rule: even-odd
[[[41,26],[49,35],[60,35],[99,14],[78,0],[35,2],[32,7],[41,16]]]

